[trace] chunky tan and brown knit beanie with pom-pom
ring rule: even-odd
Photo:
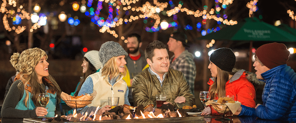
[[[31,48],[22,51],[21,54],[13,53],[10,57],[10,63],[16,70],[30,75],[44,55],[47,59],[44,50],[41,50],[40,48]]]

